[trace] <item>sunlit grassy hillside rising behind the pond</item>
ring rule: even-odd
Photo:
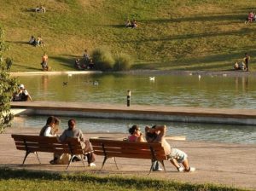
[[[40,3],[46,14],[32,12]],[[244,24],[248,0],[2,0],[0,22],[14,58],[12,72],[39,71],[44,50],[55,71],[73,70],[84,49],[108,46],[131,55],[134,69],[229,70],[256,50],[256,23]],[[135,30],[124,27],[136,18]],[[46,46],[26,42],[42,36]]]

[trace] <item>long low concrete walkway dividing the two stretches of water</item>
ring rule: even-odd
[[[256,124],[256,110],[164,107],[62,101],[12,102],[15,115],[55,115],[106,119],[142,119],[215,124]]]

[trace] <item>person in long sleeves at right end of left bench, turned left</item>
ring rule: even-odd
[[[68,120],[68,128],[67,130],[64,130],[62,135],[59,137],[61,142],[65,142],[65,140],[68,137],[77,137],[79,139],[79,142],[81,142],[82,148],[84,149],[84,152],[90,152],[92,151],[91,145],[89,140],[84,138],[84,134],[82,130],[79,130],[76,128],[76,121],[75,119],[70,119]],[[95,161],[95,155],[94,153],[87,153],[87,162],[88,165],[91,166],[96,166],[93,162]]]

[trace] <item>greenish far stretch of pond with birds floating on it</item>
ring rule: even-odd
[[[44,75],[19,77],[35,101],[256,109],[255,77],[198,75]]]

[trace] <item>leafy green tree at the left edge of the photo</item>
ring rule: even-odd
[[[4,42],[4,31],[0,26],[0,133],[11,125],[14,115],[10,111],[10,101],[17,87],[16,78],[10,77],[12,59],[3,59],[3,52],[8,49]]]

